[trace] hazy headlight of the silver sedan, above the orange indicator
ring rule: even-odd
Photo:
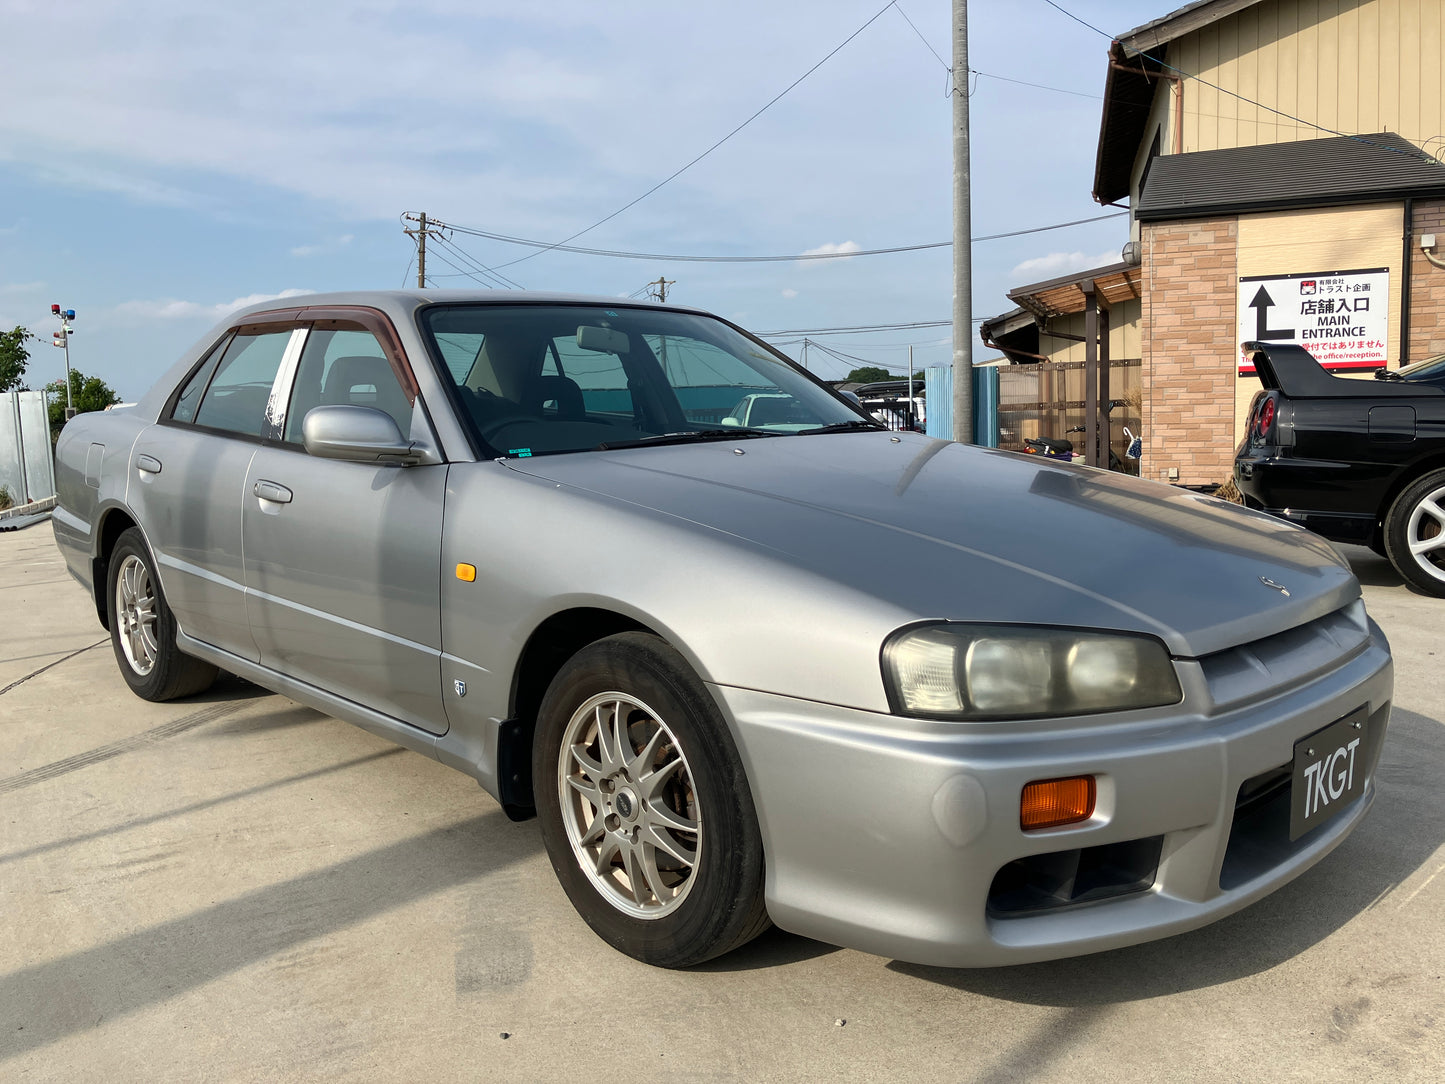
[[[1152,636],[1006,624],[923,624],[883,646],[893,711],[925,718],[1045,718],[1178,704]]]

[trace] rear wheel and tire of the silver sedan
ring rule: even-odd
[[[176,619],[166,606],[155,559],[140,528],[116,541],[105,565],[110,645],[120,674],[143,700],[175,700],[210,688],[217,669],[176,648]]]

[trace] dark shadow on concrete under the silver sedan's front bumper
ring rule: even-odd
[[[1396,710],[1376,770],[1374,808],[1332,854],[1279,892],[1192,934],[1020,967],[952,970],[890,963],[899,974],[1027,1005],[1136,1002],[1259,974],[1319,944],[1379,903],[1445,843],[1445,726]]]

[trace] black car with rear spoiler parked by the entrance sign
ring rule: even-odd
[[[1445,597],[1445,354],[1350,380],[1292,344],[1244,351],[1264,384],[1234,455],[1244,503],[1367,545]]]

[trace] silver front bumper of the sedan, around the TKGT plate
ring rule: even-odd
[[[772,919],[909,963],[991,967],[1195,929],[1314,866],[1374,799],[1393,666],[1371,623],[1364,650],[1344,665],[1241,708],[1185,714],[1181,705],[1170,720],[1030,733],[1009,723],[958,733],[714,689],[753,786]],[[1237,818],[1241,786],[1287,767],[1295,741],[1360,708],[1368,713],[1360,798],[1296,841],[1277,820]],[[1025,833],[1025,783],[1075,775],[1097,779],[1094,817]],[[1287,778],[1283,793],[1287,820]],[[990,906],[994,877],[1010,863],[1156,840],[1152,883],[1127,895],[1007,915],[996,895]]]

